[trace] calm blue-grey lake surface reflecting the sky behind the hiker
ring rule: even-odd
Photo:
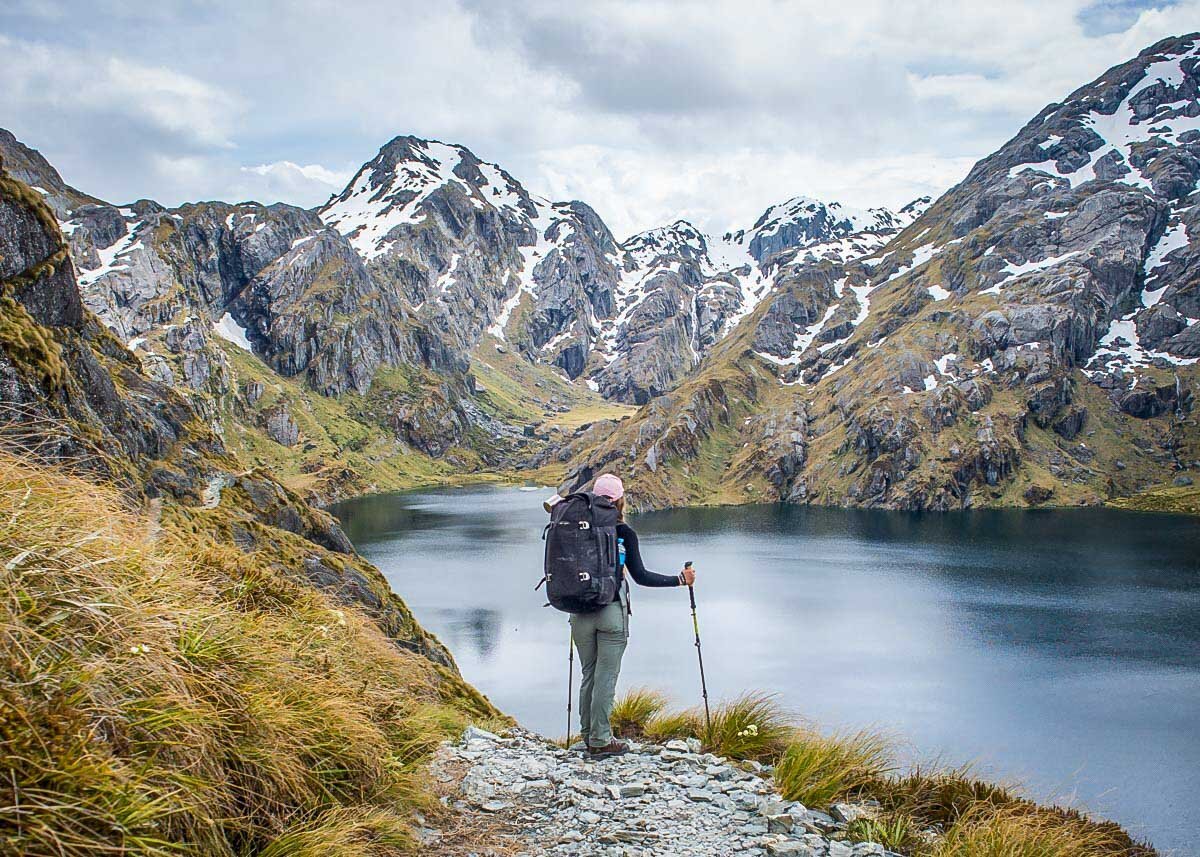
[[[533,591],[547,493],[385,495],[332,511],[470,682],[559,736],[566,617]],[[972,761],[1164,853],[1200,853],[1196,519],[763,505],[631,523],[649,568],[695,561],[713,699],[772,690],[823,726],[882,727],[911,757]],[[697,703],[685,592],[632,595],[620,687]]]

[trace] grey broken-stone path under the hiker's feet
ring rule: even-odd
[[[834,837],[869,807],[829,813],[785,801],[770,772],[700,751],[700,742],[631,745],[625,756],[590,760],[514,729],[497,736],[468,729],[442,748],[433,775],[455,787],[445,798],[486,814],[510,833],[493,853],[683,857],[890,857],[875,843]],[[442,835],[422,831],[437,853]],[[484,851],[482,853],[487,853]]]

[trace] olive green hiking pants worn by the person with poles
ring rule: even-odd
[[[588,747],[612,742],[612,700],[617,693],[620,659],[629,642],[629,601],[624,589],[613,601],[594,613],[571,616],[571,640],[580,653],[583,681],[580,683],[580,733]]]

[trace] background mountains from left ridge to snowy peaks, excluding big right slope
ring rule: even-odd
[[[618,244],[586,204],[414,137],[314,211],[113,205],[11,134],[0,154],[46,191],[88,308],[318,501],[520,463],[587,421],[564,410],[624,414],[602,398],[672,389],[799,250],[853,256],[911,220],[797,199],[724,238],[679,221]]]

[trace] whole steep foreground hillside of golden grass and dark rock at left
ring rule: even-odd
[[[499,714],[328,514],[245,469],[83,305],[0,170],[5,853],[412,852]]]

